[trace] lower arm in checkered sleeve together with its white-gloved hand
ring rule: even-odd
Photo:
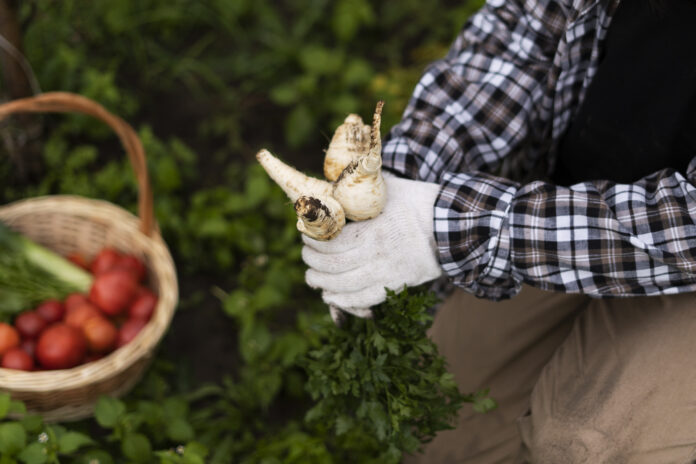
[[[665,169],[633,184],[519,185],[482,173],[446,175],[439,193],[426,182],[388,184],[399,199],[381,216],[347,225],[336,241],[305,239],[307,281],[327,302],[377,304],[384,286],[438,277],[438,260],[457,286],[490,299],[523,282],[592,296],[696,290],[696,158],[686,177]]]

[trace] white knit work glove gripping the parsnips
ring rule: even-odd
[[[370,317],[370,306],[386,299],[385,287],[401,290],[442,275],[433,236],[438,184],[385,176],[387,202],[376,218],[346,224],[333,240],[302,236],[305,279],[323,290],[338,323],[340,308]]]

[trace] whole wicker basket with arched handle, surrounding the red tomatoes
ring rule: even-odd
[[[63,92],[2,104],[0,120],[17,112],[78,112],[101,119],[119,136],[138,180],[139,217],[105,201],[70,195],[0,206],[0,220],[58,253],[92,257],[111,246],[141,258],[149,272],[149,286],[159,296],[151,321],[138,336],[98,361],[55,371],[0,369],[0,390],[24,401],[28,410],[47,421],[81,419],[93,412],[100,395],[121,395],[143,375],[176,307],[176,271],[156,228],[145,153],[135,131],[97,103]]]

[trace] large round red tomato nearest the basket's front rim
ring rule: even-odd
[[[36,344],[36,359],[46,369],[68,369],[85,357],[87,342],[82,332],[57,323],[43,331]]]

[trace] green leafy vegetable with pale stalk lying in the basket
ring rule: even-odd
[[[89,273],[0,222],[0,315],[87,293],[91,285]]]

